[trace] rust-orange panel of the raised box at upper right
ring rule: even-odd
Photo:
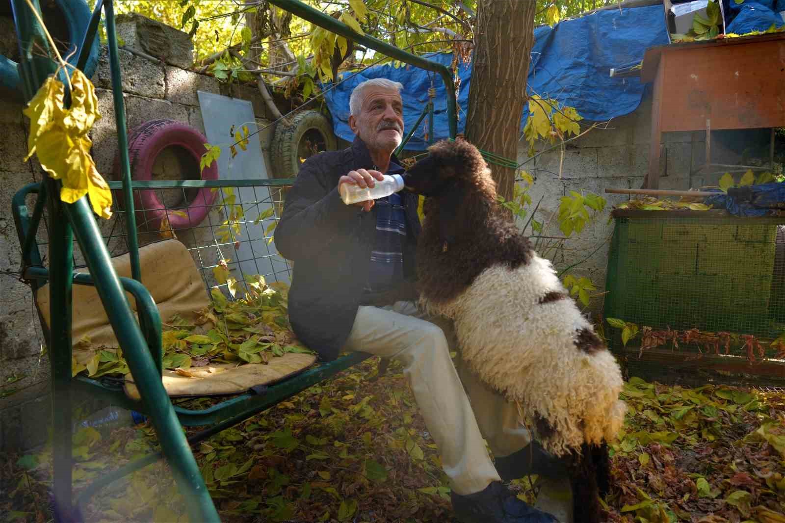
[[[661,132],[705,130],[707,119],[712,130],[785,126],[785,35],[727,42],[648,50],[643,79],[662,82]]]

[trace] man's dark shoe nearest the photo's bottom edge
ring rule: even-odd
[[[557,523],[552,515],[517,499],[499,481],[467,496],[458,496],[453,492],[452,509],[455,519],[461,523]]]

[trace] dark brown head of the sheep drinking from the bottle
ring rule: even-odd
[[[403,175],[406,188],[426,197],[440,197],[456,185],[480,188],[495,198],[495,183],[480,151],[468,141],[440,141],[428,149],[429,155]],[[490,194],[492,193],[492,194]]]

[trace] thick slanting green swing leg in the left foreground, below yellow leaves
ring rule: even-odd
[[[64,208],[68,219],[74,225],[79,247],[82,247],[82,254],[93,276],[104,310],[115,331],[122,353],[126,356],[133,381],[136,382],[144,399],[146,411],[155,427],[162,452],[166,455],[186,499],[189,518],[191,521],[221,521],[172,403],[163,388],[159,370],[150,357],[137,323],[133,320],[133,313],[126,301],[125,292],[111,265],[109,252],[103,242],[96,241],[101,237],[100,230],[87,199],[82,198],[75,203],[64,204]]]

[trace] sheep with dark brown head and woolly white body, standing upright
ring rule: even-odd
[[[477,148],[440,141],[403,178],[425,196],[419,304],[453,320],[463,362],[517,404],[543,448],[570,463],[576,517],[600,521],[607,442],[626,414],[619,364],[498,206]]]

